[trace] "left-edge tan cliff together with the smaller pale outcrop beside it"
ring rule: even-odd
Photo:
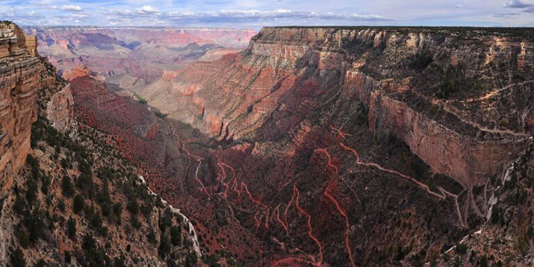
[[[49,108],[48,114],[58,129],[70,124],[73,102],[66,85],[56,81],[55,69],[50,70],[51,65],[45,65],[45,60],[36,54],[35,37],[24,35],[10,23],[0,24],[0,36],[0,182],[5,188],[31,150],[31,124],[38,118],[38,91],[44,89],[41,95],[54,99],[50,105],[54,108]],[[55,106],[58,102],[61,104]]]

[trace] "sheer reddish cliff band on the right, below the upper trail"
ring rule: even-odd
[[[509,133],[497,140],[458,133],[380,90],[371,94],[369,126],[375,133],[398,136],[433,172],[453,177],[466,188],[480,186],[489,175],[504,170],[529,141]]]

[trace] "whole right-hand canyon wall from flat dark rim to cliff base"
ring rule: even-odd
[[[532,46],[498,30],[266,27],[240,54],[181,70],[172,90],[195,90],[177,97],[183,106],[170,116],[209,136],[248,140],[260,137],[269,121],[294,126],[296,113],[313,108],[306,99],[321,98],[325,106],[347,97],[369,108],[376,134],[393,134],[434,172],[478,186],[524,149],[534,107],[501,108],[497,120],[496,105],[467,103],[503,91],[496,101],[504,103],[513,100],[508,88],[529,91]],[[460,89],[440,96],[449,90],[448,70],[457,69]],[[515,79],[498,87],[505,79],[495,73]]]

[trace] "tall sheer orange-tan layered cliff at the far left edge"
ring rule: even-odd
[[[26,51],[24,34],[15,24],[0,24],[0,36],[0,183],[6,187],[31,149],[40,60]]]

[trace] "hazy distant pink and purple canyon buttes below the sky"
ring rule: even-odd
[[[106,77],[108,86],[131,94],[193,60],[235,53],[257,32],[252,29],[173,27],[24,26],[42,56],[63,74],[83,64]]]

